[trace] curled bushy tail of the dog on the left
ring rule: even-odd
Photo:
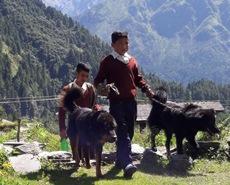
[[[68,91],[62,91],[59,100],[59,107],[63,107],[72,113],[76,107],[74,100],[78,99],[82,95],[82,91],[79,87],[72,88]]]

